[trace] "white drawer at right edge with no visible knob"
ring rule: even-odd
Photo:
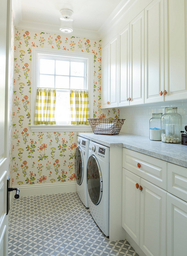
[[[168,192],[187,202],[187,168],[168,163]]]

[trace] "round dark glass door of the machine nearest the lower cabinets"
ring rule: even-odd
[[[103,193],[103,180],[97,158],[91,155],[87,162],[87,187],[92,203],[98,205]]]

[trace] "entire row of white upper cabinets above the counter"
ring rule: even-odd
[[[103,108],[187,99],[187,1],[150,0],[135,10],[103,48]]]

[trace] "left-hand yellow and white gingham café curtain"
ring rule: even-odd
[[[56,124],[56,89],[37,88],[34,124]]]

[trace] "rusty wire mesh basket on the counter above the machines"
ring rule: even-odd
[[[98,119],[88,118],[94,134],[119,134],[125,119]]]

